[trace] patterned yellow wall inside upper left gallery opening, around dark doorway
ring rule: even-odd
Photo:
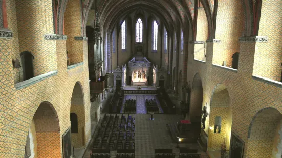
[[[43,35],[54,32],[51,2],[51,0],[16,1],[19,42],[19,50],[17,50],[16,54],[23,51],[33,54],[35,76],[57,69],[56,42],[43,39]],[[20,60],[20,58],[18,59]],[[23,77],[21,77],[22,80]]]

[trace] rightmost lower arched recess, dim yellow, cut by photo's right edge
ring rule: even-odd
[[[247,157],[281,157],[282,114],[264,108],[253,117],[248,131]]]

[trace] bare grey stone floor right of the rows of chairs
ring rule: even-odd
[[[169,128],[166,124],[177,122],[180,115],[154,114],[154,120],[149,120],[150,114],[135,114],[135,157],[150,158],[154,157],[155,149],[173,149],[176,157],[179,156],[177,144],[173,143]],[[93,139],[90,142],[88,150],[84,157],[89,158],[92,149]],[[198,149],[201,157],[207,157],[205,152],[202,152],[198,144],[180,143],[179,147],[189,149]],[[115,150],[111,151],[111,157],[115,157]]]

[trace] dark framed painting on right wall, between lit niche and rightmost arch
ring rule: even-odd
[[[244,155],[244,146],[245,142],[231,131],[231,140],[230,140],[230,158],[243,158]]]

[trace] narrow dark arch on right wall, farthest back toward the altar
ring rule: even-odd
[[[197,73],[193,79],[191,99],[190,99],[190,111],[189,117],[191,121],[201,122],[201,112],[203,106],[203,86],[202,80]]]

